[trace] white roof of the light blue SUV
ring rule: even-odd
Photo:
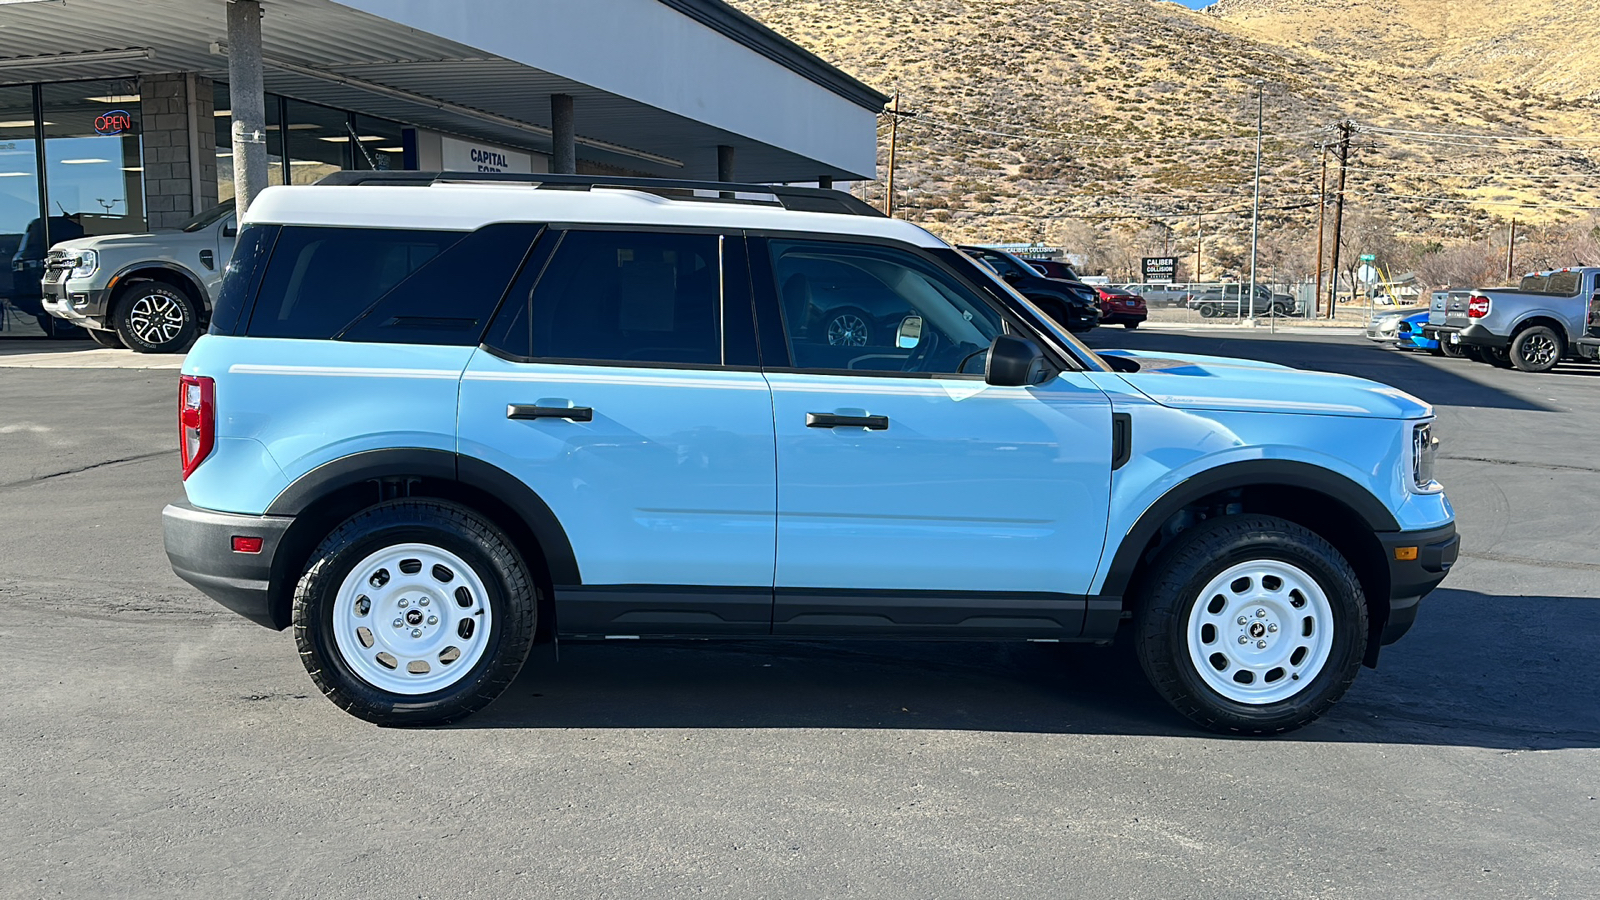
[[[250,203],[246,224],[474,231],[490,223],[582,223],[803,231],[886,237],[917,247],[942,240],[901,219],[803,213],[763,203],[674,200],[624,187],[550,191],[530,184],[278,186]]]

